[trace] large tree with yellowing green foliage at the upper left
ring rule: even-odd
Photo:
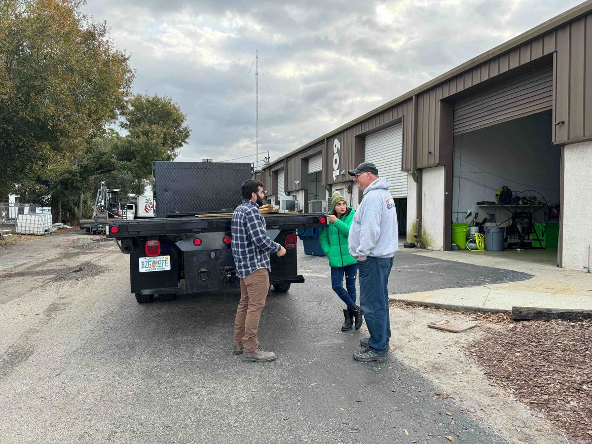
[[[81,4],[0,0],[0,195],[69,189],[90,141],[126,108],[128,56]]]

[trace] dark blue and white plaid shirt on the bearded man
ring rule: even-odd
[[[277,253],[282,246],[269,239],[265,219],[259,205],[243,200],[232,215],[232,255],[236,275],[243,279],[259,268],[271,271],[269,253]]]

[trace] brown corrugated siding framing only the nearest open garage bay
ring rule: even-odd
[[[417,96],[417,168],[438,165],[440,99],[556,53],[554,143],[592,137],[592,15],[494,57]],[[406,166],[406,164],[404,165]]]

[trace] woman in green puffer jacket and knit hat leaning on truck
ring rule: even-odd
[[[318,242],[329,258],[331,267],[331,285],[337,296],[347,305],[344,308],[345,321],[341,326],[343,332],[352,329],[352,324],[358,330],[362,326],[362,310],[356,305],[356,274],[358,261],[349,254],[348,236],[355,211],[348,207],[345,198],[339,193],[331,198],[332,211],[329,213],[329,227],[323,228],[318,236]],[[345,287],[343,288],[343,275]]]

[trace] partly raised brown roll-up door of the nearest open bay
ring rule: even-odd
[[[454,104],[454,134],[468,133],[553,107],[553,67],[546,66]]]

